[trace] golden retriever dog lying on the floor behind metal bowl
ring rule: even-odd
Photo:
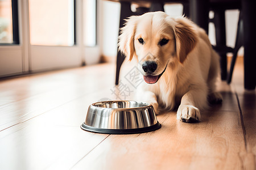
[[[119,50],[137,58],[143,83],[139,100],[159,110],[177,109],[177,119],[200,120],[208,103],[220,103],[216,92],[219,56],[207,34],[191,20],[164,12],[131,16],[121,29]]]

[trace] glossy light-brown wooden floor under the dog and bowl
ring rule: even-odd
[[[243,90],[241,62],[231,86],[218,83],[222,105],[197,124],[168,112],[150,133],[81,130],[90,104],[133,99],[133,69],[119,87],[109,63],[1,80],[0,169],[256,169],[255,91]]]

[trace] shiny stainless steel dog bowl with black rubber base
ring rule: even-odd
[[[151,104],[137,101],[101,101],[89,106],[83,130],[106,134],[133,134],[157,130]]]

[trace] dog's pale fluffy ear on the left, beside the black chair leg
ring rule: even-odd
[[[121,35],[118,37],[119,50],[129,57],[129,61],[133,59],[135,55],[134,49],[134,35],[137,28],[138,16],[130,16],[126,19],[125,26],[121,28]]]

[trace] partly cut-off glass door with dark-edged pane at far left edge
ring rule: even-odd
[[[0,1],[0,76],[20,74],[22,47],[19,45],[18,1]]]

